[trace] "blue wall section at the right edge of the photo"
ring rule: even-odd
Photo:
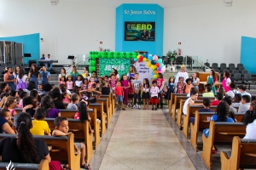
[[[250,74],[256,74],[256,38],[241,37],[241,64]]]

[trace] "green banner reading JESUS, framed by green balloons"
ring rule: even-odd
[[[122,75],[127,75],[131,65],[131,59],[99,59],[99,75],[100,77],[109,76],[113,71],[113,67],[119,72],[121,79]]]

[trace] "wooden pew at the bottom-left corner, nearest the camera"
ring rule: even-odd
[[[24,170],[24,169],[49,170],[49,162],[45,159],[40,161],[40,164],[16,163],[16,162],[12,162],[12,164],[10,164],[10,162],[0,162],[0,170],[6,170],[8,166],[9,166],[9,169],[11,169],[11,167],[13,166],[15,170]]]

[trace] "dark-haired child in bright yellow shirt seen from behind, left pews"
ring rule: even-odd
[[[32,135],[50,135],[49,125],[45,120],[47,116],[46,110],[44,108],[39,107],[35,112],[34,120],[32,120],[32,128],[30,132]]]

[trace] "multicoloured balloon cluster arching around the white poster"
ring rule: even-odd
[[[163,64],[163,60],[157,55],[152,54],[138,54],[136,58],[133,59],[135,62],[148,61],[147,66],[153,70],[153,78],[157,78],[158,73],[164,73],[166,67]]]

